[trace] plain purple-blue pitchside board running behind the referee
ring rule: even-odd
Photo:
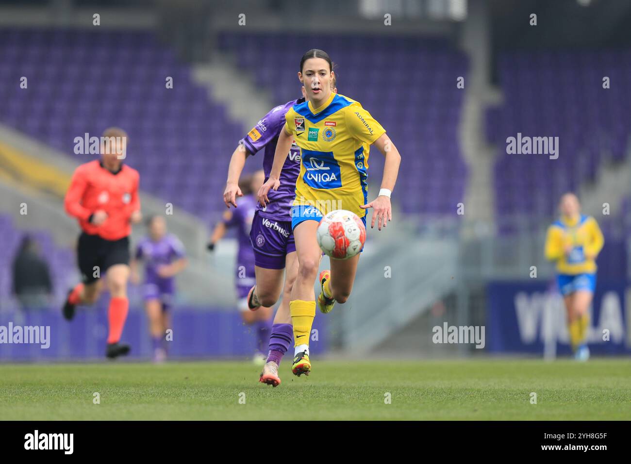
[[[236,310],[177,307],[171,325],[167,346],[172,359],[251,359],[256,348],[256,325],[244,325]],[[312,329],[312,352],[325,352],[326,318],[316,318]],[[0,313],[0,363],[105,359],[106,339],[105,307],[81,307],[71,322],[62,318],[59,309]],[[151,359],[151,338],[141,308],[129,311],[121,342],[132,347],[128,358]],[[293,357],[293,348],[286,356]]]

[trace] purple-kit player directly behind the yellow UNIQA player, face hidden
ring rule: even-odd
[[[334,81],[331,87],[333,92],[337,92]],[[239,176],[245,165],[245,159],[250,155],[256,155],[260,150],[265,150],[263,170],[267,180],[274,161],[278,135],[285,124],[285,114],[293,105],[304,102],[304,95],[303,88],[303,98],[274,107],[257,122],[247,136],[239,141],[239,146],[230,158],[228,181],[223,193],[223,201],[228,208],[230,206],[237,208],[237,197],[243,196],[239,189]],[[274,306],[281,292],[283,293],[283,300],[274,316],[272,333],[269,337],[268,359],[259,378],[262,383],[274,387],[280,384],[278,367],[281,359],[293,342],[289,301],[298,272],[298,261],[292,234],[291,208],[296,196],[295,183],[298,174],[300,174],[300,148],[293,143],[281,170],[281,177],[285,182],[281,181],[278,190],[269,192],[268,205],[263,207],[257,203],[250,234],[256,263],[256,285],[248,294],[249,309],[257,311],[263,306]],[[284,285],[283,273],[285,274]]]

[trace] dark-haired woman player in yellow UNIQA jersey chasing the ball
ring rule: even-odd
[[[295,356],[292,372],[309,374],[309,337],[315,317],[314,281],[321,257],[315,230],[321,218],[333,210],[349,210],[366,223],[367,208],[373,208],[370,227],[381,230],[392,220],[390,194],[401,156],[386,130],[355,100],[331,92],[333,64],[321,50],[310,50],[300,60],[298,80],[305,86],[307,101],[294,105],[285,115],[268,181],[259,189],[261,205],[269,201],[269,189],[280,186],[280,172],[292,145],[300,147],[302,165],[292,206],[292,230],[298,255],[298,275],[293,285],[290,313]],[[379,196],[368,201],[369,145],[386,157]],[[331,270],[319,277],[322,312],[336,301],[348,299],[355,280],[359,254],[341,260],[331,258]]]

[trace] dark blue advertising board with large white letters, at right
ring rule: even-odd
[[[587,332],[593,355],[631,354],[627,288],[626,282],[611,280],[596,285]],[[571,354],[565,306],[556,283],[491,282],[487,296],[488,351],[546,357]]]

